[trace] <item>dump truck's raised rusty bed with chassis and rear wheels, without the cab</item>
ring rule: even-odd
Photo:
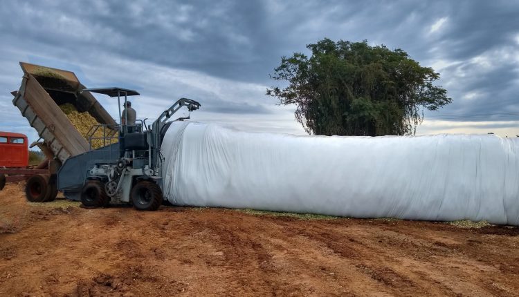
[[[20,62],[24,76],[19,90],[12,92],[12,104],[35,128],[37,146],[46,159],[34,169],[0,169],[0,180],[26,180],[26,197],[31,202],[47,202],[57,195],[57,171],[71,156],[91,149],[86,137],[78,131],[60,106],[69,104],[78,113],[88,113],[96,122],[117,132],[116,121],[71,71]],[[6,178],[6,175],[7,178]]]

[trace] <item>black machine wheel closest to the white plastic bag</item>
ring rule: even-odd
[[[161,188],[154,182],[143,180],[131,189],[131,202],[138,211],[156,211],[162,200]]]

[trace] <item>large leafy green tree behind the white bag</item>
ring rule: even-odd
[[[367,41],[322,39],[282,57],[271,78],[286,81],[267,95],[295,104],[295,117],[315,135],[412,135],[424,108],[449,104],[447,91],[433,82],[439,73],[422,67],[407,52]]]

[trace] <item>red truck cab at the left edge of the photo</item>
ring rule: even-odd
[[[29,144],[27,136],[21,133],[0,131],[0,167],[27,167],[29,165]]]

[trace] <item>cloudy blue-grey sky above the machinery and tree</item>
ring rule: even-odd
[[[138,117],[179,97],[192,119],[304,134],[266,88],[280,57],[328,37],[402,48],[441,74],[453,103],[418,134],[519,134],[519,1],[2,1],[0,130],[37,135],[12,106],[19,61],[88,87],[135,88]],[[98,96],[116,117],[117,104]],[[187,115],[181,112],[179,116]]]

